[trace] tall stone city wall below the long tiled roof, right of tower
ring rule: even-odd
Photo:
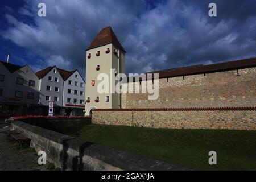
[[[240,76],[234,70],[161,78],[157,100],[148,100],[148,94],[122,94],[122,109],[255,107],[256,68],[238,69],[238,73]]]

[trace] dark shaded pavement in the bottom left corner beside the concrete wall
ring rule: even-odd
[[[0,129],[0,171],[44,171],[46,166],[39,166],[38,156],[30,150],[17,150],[13,142],[6,139]]]

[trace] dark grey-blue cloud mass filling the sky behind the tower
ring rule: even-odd
[[[126,72],[146,72],[256,56],[256,1],[27,1],[19,14],[6,13],[5,39],[39,55],[32,68],[57,65],[85,73],[85,49],[102,27],[112,26],[127,51]]]

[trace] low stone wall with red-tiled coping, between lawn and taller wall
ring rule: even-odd
[[[224,108],[222,108],[224,109]],[[98,109],[92,123],[170,129],[256,130],[256,110]]]

